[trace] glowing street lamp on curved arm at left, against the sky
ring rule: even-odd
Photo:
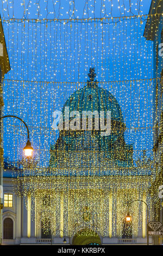
[[[18,120],[20,120],[21,122],[23,122],[24,126],[26,126],[28,138],[27,138],[26,146],[23,148],[23,151],[24,151],[24,155],[25,155],[26,157],[32,157],[33,147],[31,146],[31,142],[30,142],[30,140],[29,140],[29,129],[28,129],[27,124],[26,124],[20,117],[18,117],[18,116],[13,116],[13,115],[1,116],[1,117],[0,117],[0,120],[3,119],[3,118],[6,118],[6,117],[14,117],[14,118],[17,118]]]

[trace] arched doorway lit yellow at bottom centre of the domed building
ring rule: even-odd
[[[73,237],[73,245],[101,245],[99,235],[91,229],[79,230]]]

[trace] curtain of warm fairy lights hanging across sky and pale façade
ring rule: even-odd
[[[153,85],[158,79],[153,79],[153,43],[143,37],[148,16],[141,13],[141,1],[137,15],[131,14],[133,3],[124,13],[125,4],[122,7],[118,1],[119,17],[112,17],[112,1],[107,7],[102,2],[99,18],[95,13],[89,17],[96,5],[86,9],[85,3],[81,18],[75,16],[76,8],[70,4],[67,15],[71,19],[60,17],[61,5],[55,10],[58,18],[51,19],[54,9],[51,13],[46,8],[44,19],[36,4],[37,17],[32,19],[32,1],[27,12],[24,8],[23,17],[11,16],[10,12],[2,17],[11,64],[10,74],[4,79],[4,114],[20,116],[27,122],[35,151],[30,163],[22,160],[26,130],[15,120],[5,120],[4,152],[17,166],[13,173],[17,176],[16,193],[32,198],[32,217],[37,227],[44,222],[47,232],[50,226],[63,227],[66,235],[72,235],[87,227],[102,236],[121,236],[129,203],[143,195],[151,205],[148,189],[155,179]],[[65,146],[56,146],[60,137],[52,128],[53,112],[61,111],[72,93],[87,87],[90,67],[95,67],[96,86],[110,92],[114,97],[110,96],[110,102],[117,100],[116,108],[126,127],[118,145],[123,139],[128,152],[125,157],[122,147],[121,157],[117,148],[112,158],[104,153],[108,150],[105,146],[98,151],[96,135],[86,139],[89,150],[74,147],[72,151],[68,146],[66,151]],[[91,90],[92,98],[87,100],[92,100],[93,111],[97,98]],[[72,100],[78,105],[81,99]],[[71,137],[79,145],[81,138],[78,133]],[[60,157],[55,158],[55,154]],[[146,217],[140,212],[142,205],[135,203],[131,209],[135,236]]]

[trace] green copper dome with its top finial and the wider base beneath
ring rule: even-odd
[[[77,162],[81,162],[82,166],[88,168],[90,164],[103,163],[99,158],[107,159],[108,163],[114,161],[118,166],[132,165],[133,145],[127,145],[124,140],[126,126],[120,105],[110,92],[98,86],[97,80],[95,81],[95,68],[90,68],[88,75],[90,80],[87,81],[86,86],[72,93],[62,108],[63,126],[59,130],[57,142],[51,146],[50,166],[59,166],[59,164],[63,166],[64,163],[68,164],[69,162],[74,164],[74,159],[77,159]],[[68,109],[68,115],[65,116],[66,109]],[[69,125],[71,121],[74,122],[75,116],[70,118],[71,111],[79,113],[78,129],[71,129],[69,126],[67,129],[67,116]],[[109,133],[103,135],[101,124],[99,129],[96,129],[97,119],[95,122],[95,116],[92,117],[92,129],[88,129],[88,125],[83,129],[83,117],[81,118],[83,111],[91,113],[98,111],[99,124],[101,122],[100,112],[103,111],[105,125],[108,123],[107,114],[110,111],[111,131],[109,130]],[[88,119],[86,119],[87,124],[89,123]],[[92,159],[96,157],[98,160],[92,162]],[[69,165],[71,165],[70,163]]]

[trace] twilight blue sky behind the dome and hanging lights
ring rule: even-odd
[[[134,159],[143,149],[151,154],[153,45],[143,38],[147,16],[135,16],[148,14],[151,1],[3,2],[11,64],[4,80],[4,114],[27,122],[39,164],[48,165],[49,146],[58,137],[51,128],[52,112],[85,85],[90,66],[95,66],[99,86],[120,103]],[[70,20],[77,17],[92,20]],[[5,120],[4,155],[21,159],[25,144],[23,125]]]

